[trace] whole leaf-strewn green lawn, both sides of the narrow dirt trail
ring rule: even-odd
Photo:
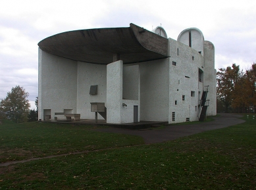
[[[152,145],[92,127],[4,123],[1,162],[101,151],[1,166],[0,189],[255,189],[256,121],[243,119],[237,126]]]

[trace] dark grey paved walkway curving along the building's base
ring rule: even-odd
[[[101,128],[97,131],[109,132],[109,133],[124,133],[129,135],[138,135],[143,137],[145,143],[161,143],[164,141],[170,141],[201,133],[203,131],[216,130],[220,128],[226,128],[228,126],[234,126],[236,124],[242,124],[245,120],[241,120],[240,114],[220,114],[212,122],[203,122],[200,124],[186,124],[177,126],[167,126],[161,130],[128,130],[122,128]]]

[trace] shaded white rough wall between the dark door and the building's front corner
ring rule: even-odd
[[[140,63],[140,120],[168,121],[168,59]]]

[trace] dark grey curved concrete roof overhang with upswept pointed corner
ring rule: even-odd
[[[38,43],[41,50],[67,59],[109,64],[114,55],[124,64],[168,57],[168,39],[140,26],[63,32]]]

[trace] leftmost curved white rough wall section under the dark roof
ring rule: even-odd
[[[39,50],[39,119],[51,112],[51,120],[55,112],[64,109],[76,113],[76,61],[64,59]],[[43,113],[47,110],[47,113]]]

